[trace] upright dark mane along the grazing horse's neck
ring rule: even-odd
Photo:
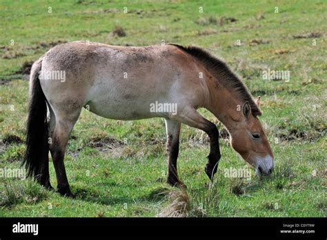
[[[241,101],[248,101],[251,106],[253,116],[260,116],[261,110],[259,110],[255,101],[253,101],[251,94],[248,92],[248,89],[244,83],[228,68],[224,61],[213,57],[212,54],[206,52],[201,48],[195,46],[179,46],[176,44],[171,44],[177,48],[187,52],[188,54],[195,57],[201,63],[204,63],[204,66],[208,68],[208,71],[212,73],[214,77],[217,77],[219,80],[224,81],[224,85],[238,94]]]

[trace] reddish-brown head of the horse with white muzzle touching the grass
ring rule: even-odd
[[[259,105],[259,99],[257,100]],[[257,174],[270,174],[275,166],[273,151],[270,148],[264,128],[253,116],[248,102],[242,107],[241,120],[230,132],[230,143],[241,157],[257,170]]]

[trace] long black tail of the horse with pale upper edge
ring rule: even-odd
[[[30,92],[28,100],[28,119],[26,126],[26,153],[22,165],[25,165],[28,177],[40,181],[41,174],[48,167],[48,122],[46,97],[43,94],[39,72],[42,57],[35,61],[30,72]],[[48,172],[48,169],[46,170]]]

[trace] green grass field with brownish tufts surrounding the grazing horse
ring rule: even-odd
[[[221,161],[204,172],[208,138],[182,126],[179,176],[166,184],[162,119],[113,121],[83,110],[66,152],[75,199],[25,179],[0,179],[1,217],[326,217],[327,3],[321,1],[0,1],[0,169],[20,167],[28,66],[52,46],[89,40],[112,45],[196,45],[224,59],[253,96],[275,153],[259,179],[226,177],[246,166],[217,123]],[[122,30],[120,29],[122,28]],[[289,81],[263,79],[290,71]],[[1,173],[0,172],[0,173]],[[57,186],[50,163],[52,186]],[[179,203],[179,205],[178,205]],[[182,206],[179,208],[178,206]]]

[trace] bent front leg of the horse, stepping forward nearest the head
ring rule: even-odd
[[[208,163],[206,164],[205,172],[212,180],[214,174],[217,172],[218,162],[221,157],[219,150],[219,132],[215,123],[212,123],[202,117],[195,108],[184,108],[183,112],[174,117],[176,121],[181,121],[190,127],[198,128],[208,134],[210,138],[210,153],[208,156]]]

